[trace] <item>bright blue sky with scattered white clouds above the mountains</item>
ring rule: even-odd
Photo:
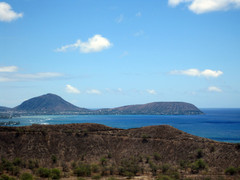
[[[0,1],[0,106],[240,108],[240,0]]]

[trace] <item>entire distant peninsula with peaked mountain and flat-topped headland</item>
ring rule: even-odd
[[[140,105],[128,105],[117,108],[91,110],[77,107],[60,96],[45,94],[24,101],[15,108],[1,107],[4,117],[7,114],[46,115],[46,114],[82,114],[82,115],[200,115],[196,106],[185,102],[153,102]]]

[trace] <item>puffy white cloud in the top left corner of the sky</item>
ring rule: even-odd
[[[21,17],[23,13],[16,13],[8,3],[0,2],[0,21],[11,22]]]

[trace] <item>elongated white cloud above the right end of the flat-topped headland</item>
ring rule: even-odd
[[[205,69],[204,71],[200,71],[198,69],[187,69],[187,70],[174,70],[171,71],[170,74],[179,74],[179,75],[187,75],[187,76],[203,76],[203,77],[218,77],[223,74],[222,71],[214,71],[211,69]]]

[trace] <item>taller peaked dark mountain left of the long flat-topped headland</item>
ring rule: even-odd
[[[89,110],[79,108],[55,94],[45,94],[34,97],[14,108],[17,112],[34,114],[74,114],[85,113]]]

